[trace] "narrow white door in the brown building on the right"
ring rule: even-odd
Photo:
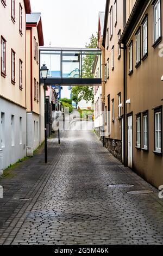
[[[128,167],[133,167],[133,117],[128,117]]]

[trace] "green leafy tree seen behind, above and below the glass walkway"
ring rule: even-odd
[[[86,44],[86,48],[97,48],[98,44],[98,35],[91,35],[89,45]],[[92,69],[93,63],[95,60],[95,55],[87,55],[83,58],[83,67],[82,67],[82,77],[83,78],[93,78]],[[76,86],[72,88],[72,99],[74,102],[78,102],[80,100],[92,101],[94,99],[93,96],[93,87],[92,86]]]

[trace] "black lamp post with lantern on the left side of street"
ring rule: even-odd
[[[46,86],[45,86],[45,81],[47,79],[47,75],[48,75],[48,69],[46,64],[43,64],[41,69],[40,69],[40,73],[41,73],[41,77],[44,81],[44,110],[45,110],[45,163],[47,163],[47,126],[46,126]]]

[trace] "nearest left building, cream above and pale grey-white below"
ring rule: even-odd
[[[27,0],[0,2],[0,166],[3,168],[26,156],[26,14],[30,11]]]

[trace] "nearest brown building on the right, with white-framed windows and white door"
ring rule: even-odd
[[[162,17],[161,0],[135,1],[120,40],[126,63],[125,162],[156,187],[163,184]]]

